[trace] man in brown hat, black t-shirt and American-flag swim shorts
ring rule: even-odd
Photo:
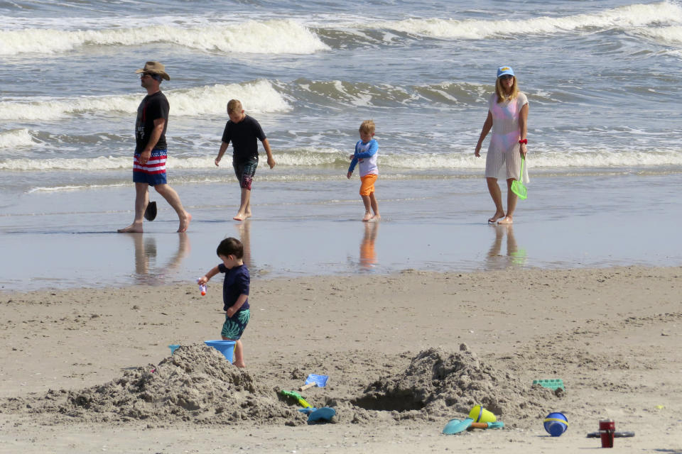
[[[149,204],[149,187],[153,186],[168,204],[171,204],[180,219],[178,232],[187,231],[192,215],[183,208],[180,197],[166,182],[166,126],[170,106],[166,95],[159,88],[163,79],[171,80],[166,67],[159,62],[146,62],[144,68],[136,70],[140,84],[147,90],[137,108],[135,123],[135,157],[133,182],[135,183],[135,219],[120,233],[142,233],[142,222]]]

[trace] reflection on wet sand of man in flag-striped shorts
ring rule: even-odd
[[[156,262],[156,238],[148,233],[129,233],[135,243],[135,280],[137,284],[165,284],[163,277],[168,270],[178,267],[190,250],[187,233],[178,233],[178,251],[163,266],[150,266]],[[166,239],[164,238],[164,244]]]

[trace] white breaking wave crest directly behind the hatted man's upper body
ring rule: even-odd
[[[289,111],[291,106],[267,80],[241,84],[216,84],[190,89],[171,89],[163,92],[171,104],[172,116],[225,114],[227,101],[240,99],[249,111],[256,113]],[[118,96],[79,96],[50,98],[36,101],[2,101],[0,118],[4,120],[54,120],[64,116],[92,112],[105,114],[120,112],[134,114],[142,99],[141,94]],[[225,114],[227,117],[227,114]]]

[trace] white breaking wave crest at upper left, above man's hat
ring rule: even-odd
[[[0,31],[0,55],[53,54],[82,46],[168,43],[212,52],[311,54],[328,46],[305,26],[291,20],[248,21],[232,25],[183,28],[151,25],[64,31],[45,28]]]

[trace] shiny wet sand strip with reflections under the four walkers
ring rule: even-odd
[[[225,236],[249,250],[254,279],[682,265],[682,219],[670,208],[678,175],[536,177],[511,227],[486,225],[492,201],[480,178],[384,179],[372,225],[359,221],[355,182],[259,182],[244,223],[232,221],[239,188],[230,183],[178,185],[193,214],[186,234],[162,200],[144,235],[115,233],[132,218],[129,187],[24,194],[0,216],[0,250],[11,258],[0,262],[0,290],[193,282]],[[106,211],[114,207],[127,211]]]

